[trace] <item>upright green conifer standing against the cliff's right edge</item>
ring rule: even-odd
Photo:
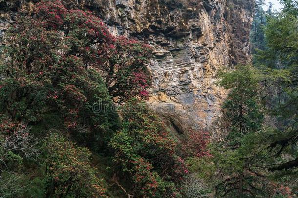
[[[229,146],[239,146],[241,139],[258,132],[264,120],[259,105],[257,71],[250,66],[237,66],[235,71],[222,72],[219,84],[230,92],[225,100],[223,117]]]

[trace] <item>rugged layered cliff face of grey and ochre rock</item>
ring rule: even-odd
[[[34,1],[0,0],[0,37],[14,13]],[[225,96],[220,67],[250,60],[253,0],[64,0],[96,12],[114,34],[151,44],[149,105],[178,126],[208,128]],[[178,124],[177,124],[178,123]],[[181,128],[181,126],[179,126]]]

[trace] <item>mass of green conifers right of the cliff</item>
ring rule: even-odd
[[[286,197],[297,190],[298,5],[281,3],[284,9],[269,10],[263,23],[257,8],[254,25],[264,27],[251,36],[259,69],[221,73],[219,84],[229,90],[220,125],[224,141],[212,144],[213,157],[187,161],[218,196]]]

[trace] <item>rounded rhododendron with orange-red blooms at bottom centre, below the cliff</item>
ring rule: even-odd
[[[188,170],[175,152],[177,144],[170,131],[136,99],[125,105],[122,116],[123,129],[110,141],[119,176],[129,178],[137,197],[179,197]]]

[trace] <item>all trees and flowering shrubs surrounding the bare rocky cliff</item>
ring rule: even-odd
[[[0,197],[297,197],[298,3],[280,2],[256,1],[253,66],[219,72],[212,135],[149,110],[149,45],[60,0],[20,13],[0,51]]]

